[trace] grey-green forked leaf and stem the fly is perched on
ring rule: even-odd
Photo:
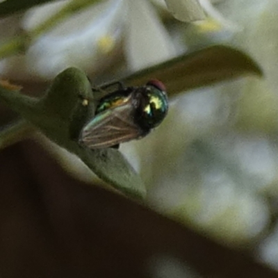
[[[88,105],[83,104],[83,97],[88,98]],[[0,87],[0,100],[8,107],[40,129],[49,139],[79,156],[101,179],[126,195],[142,198],[145,187],[119,151],[110,148],[88,149],[79,145],[78,138],[71,137],[72,133],[78,134],[85,122],[93,117],[93,97],[87,76],[74,67],[58,74],[41,99]]]

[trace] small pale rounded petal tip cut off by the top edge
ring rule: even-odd
[[[198,0],[165,0],[172,15],[181,22],[205,19],[204,10]]]

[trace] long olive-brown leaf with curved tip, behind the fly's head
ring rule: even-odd
[[[126,76],[126,85],[141,85],[150,79],[165,83],[168,95],[193,88],[234,79],[246,74],[261,76],[262,72],[250,56],[226,46],[213,46],[185,54],[165,63]]]

